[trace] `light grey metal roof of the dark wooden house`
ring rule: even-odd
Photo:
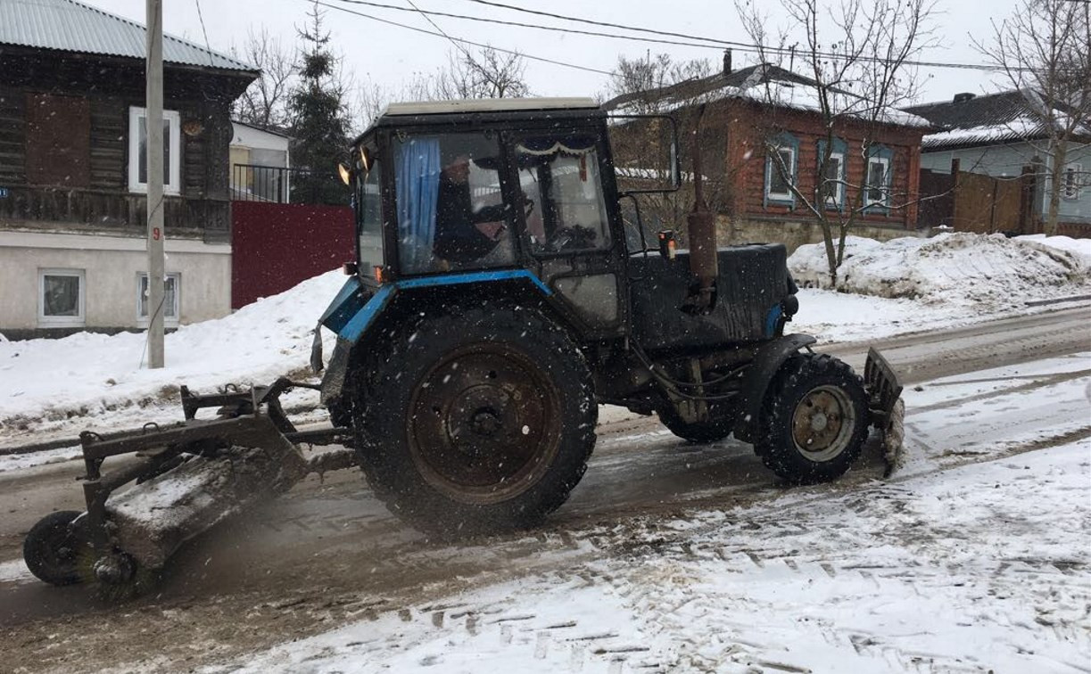
[[[144,26],[75,0],[0,0],[0,44],[144,59]],[[254,72],[252,65],[164,34],[163,60]]]

